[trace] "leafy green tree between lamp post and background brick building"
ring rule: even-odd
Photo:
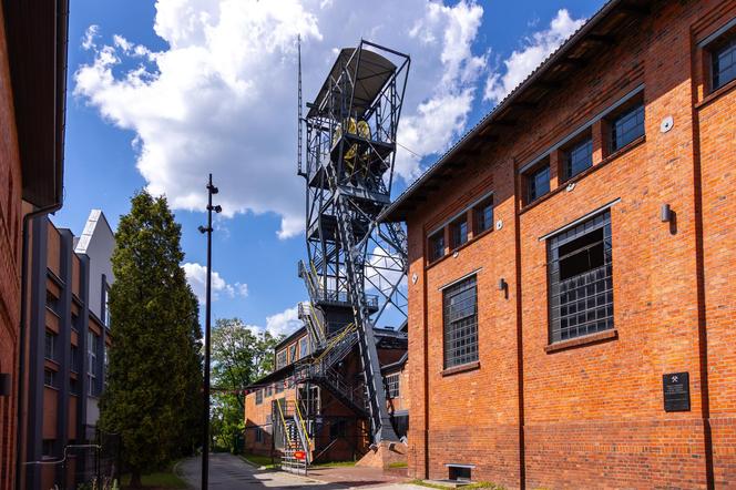
[[[212,433],[216,445],[235,451],[245,428],[245,395],[241,388],[270,372],[274,347],[280,341],[268,331],[254,333],[238,318],[218,318],[212,330]]]

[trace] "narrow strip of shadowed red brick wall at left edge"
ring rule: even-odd
[[[4,20],[0,7],[0,372],[11,377],[11,396],[0,397],[0,490],[16,472],[16,364],[20,323],[21,167],[10,86]]]

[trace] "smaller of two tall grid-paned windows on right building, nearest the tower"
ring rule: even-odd
[[[476,276],[444,289],[444,368],[478,360]]]

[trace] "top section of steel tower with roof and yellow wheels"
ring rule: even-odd
[[[410,62],[407,54],[366,40],[338,53],[306,118],[310,130],[327,133],[319,160],[329,157],[338,175],[355,177],[360,169],[364,181],[380,180],[382,192],[390,191]]]

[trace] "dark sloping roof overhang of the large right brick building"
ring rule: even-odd
[[[420,192],[439,190],[452,169],[463,166],[478,156],[499,134],[513,126],[520,111],[533,110],[550,90],[562,88],[565,76],[584,68],[594,52],[610,47],[622,34],[622,27],[633,19],[650,13],[651,0],[610,0],[568,40],[553,51],[527,79],[485,114],[450,150],[448,150],[417,181],[410,184],[378,217],[381,222],[406,221],[419,202],[426,201]],[[624,33],[625,34],[625,33]],[[495,133],[495,134],[493,134]],[[446,172],[448,171],[449,172]],[[428,185],[431,181],[437,185]]]

